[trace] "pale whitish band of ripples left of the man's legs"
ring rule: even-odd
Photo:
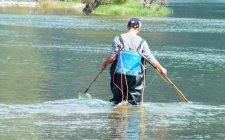
[[[74,113],[107,112],[110,104],[106,101],[93,100],[58,100],[36,104],[0,104],[0,115],[3,118],[24,118],[35,114],[68,116]]]

